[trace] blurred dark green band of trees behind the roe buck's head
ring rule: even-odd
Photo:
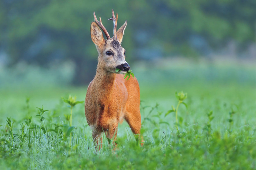
[[[0,50],[7,52],[10,65],[72,60],[73,83],[88,83],[97,65],[90,38],[93,11],[112,35],[112,22],[107,21],[112,8],[119,13],[118,27],[128,21],[123,41],[127,62],[206,54],[233,39],[245,44],[243,50],[255,41],[255,0],[2,0]]]

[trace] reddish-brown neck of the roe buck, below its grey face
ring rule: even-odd
[[[107,104],[112,98],[116,74],[104,69],[99,63],[94,80],[98,93],[98,100]]]

